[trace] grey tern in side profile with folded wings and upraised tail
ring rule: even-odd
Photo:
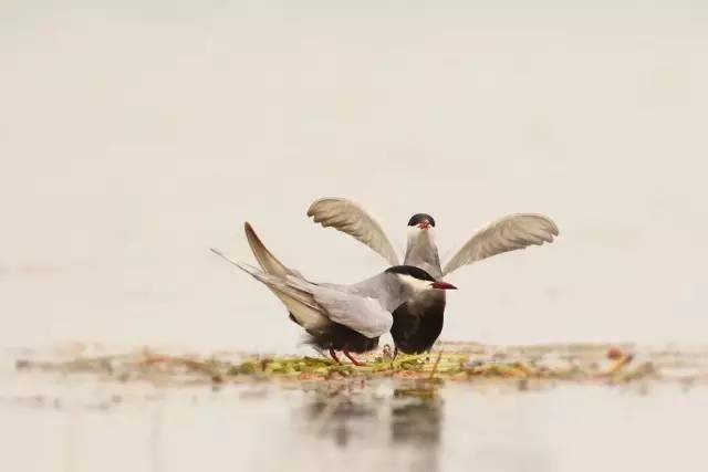
[[[421,293],[456,289],[423,269],[399,264],[352,285],[311,282],[280,262],[248,222],[244,231],[261,269],[211,251],[266,284],[285,305],[290,318],[310,335],[308,343],[327,349],[337,363],[335,352],[341,350],[354,365],[361,365],[351,353],[375,349],[378,337],[394,324],[393,313],[406,301]]]

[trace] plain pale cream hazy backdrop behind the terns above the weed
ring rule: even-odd
[[[208,252],[241,224],[310,279],[385,268],[323,196],[449,255],[500,216],[556,243],[456,272],[445,339],[705,342],[705,2],[0,1],[0,346],[294,350]],[[519,8],[519,6],[523,6]]]

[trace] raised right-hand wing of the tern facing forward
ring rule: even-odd
[[[442,275],[502,252],[553,242],[558,234],[555,223],[543,214],[517,213],[500,218],[477,231],[445,265]]]

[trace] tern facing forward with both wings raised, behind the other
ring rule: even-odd
[[[332,227],[354,237],[382,255],[388,264],[399,263],[382,227],[353,201],[322,198],[310,206],[308,216],[325,228]],[[416,213],[408,220],[408,243],[403,263],[419,268],[439,280],[464,265],[492,255],[553,242],[558,234],[558,227],[549,217],[538,213],[509,214],[475,232],[442,268],[435,243],[435,219],[427,213]],[[394,311],[391,334],[396,346],[395,353],[419,354],[430,350],[442,331],[445,303],[445,292],[420,292]]]

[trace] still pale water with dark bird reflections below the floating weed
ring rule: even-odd
[[[10,366],[10,363],[6,364]],[[706,387],[170,387],[3,370],[2,470],[705,470]]]

